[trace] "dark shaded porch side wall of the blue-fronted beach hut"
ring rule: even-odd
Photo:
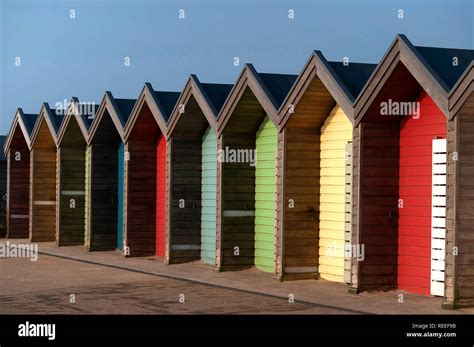
[[[90,153],[90,250],[114,250],[117,248],[118,144],[93,144]]]

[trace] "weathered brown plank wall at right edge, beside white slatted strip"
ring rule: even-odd
[[[445,300],[474,302],[474,94],[448,124],[448,209]],[[458,160],[453,160],[457,152]],[[458,255],[453,255],[454,247]]]

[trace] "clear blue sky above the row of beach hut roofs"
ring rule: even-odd
[[[473,2],[0,0],[0,133],[17,107],[37,113],[71,96],[100,102],[105,90],[136,98],[146,81],[181,91],[190,73],[233,83],[246,62],[297,74],[313,49],[376,63],[397,33],[415,45],[473,49]]]

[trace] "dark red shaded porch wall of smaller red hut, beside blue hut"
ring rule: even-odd
[[[132,140],[126,151],[130,155],[125,163],[127,245],[130,256],[152,256],[156,247],[156,142],[153,138]]]

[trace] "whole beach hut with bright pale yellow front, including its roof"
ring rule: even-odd
[[[353,102],[374,68],[315,51],[280,107],[280,280],[349,282]]]

